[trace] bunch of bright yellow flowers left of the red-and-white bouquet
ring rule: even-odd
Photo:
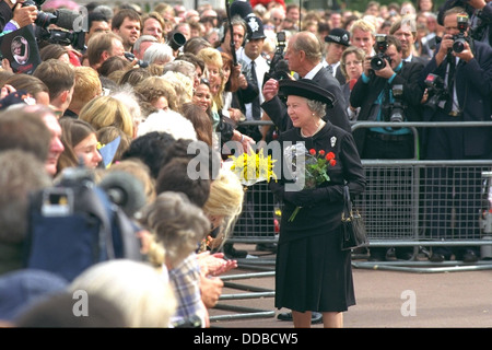
[[[263,152],[242,153],[238,156],[230,155],[232,160],[231,171],[237,175],[241,183],[245,186],[251,186],[258,182],[270,182],[271,178],[277,180],[273,172],[274,160],[271,155],[265,156]]]

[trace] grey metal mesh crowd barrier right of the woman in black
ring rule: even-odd
[[[490,121],[401,122],[414,131],[419,128],[489,127]],[[395,127],[393,122],[355,122],[352,130]],[[417,150],[417,149],[415,149]],[[418,153],[415,153],[418,154]],[[492,209],[485,198],[491,186],[488,173],[492,160],[420,161],[363,160],[367,188],[356,205],[363,211],[371,247],[413,247],[410,261],[354,261],[355,267],[394,269],[413,272],[492,269],[491,260],[431,262],[417,259],[419,252],[438,246],[492,247],[492,235],[483,226]],[[446,180],[440,180],[440,175]],[[436,206],[436,202],[438,205]],[[492,258],[492,256],[490,257]]]

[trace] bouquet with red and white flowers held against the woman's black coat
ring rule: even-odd
[[[285,149],[285,162],[289,163],[292,170],[293,179],[300,186],[298,189],[313,189],[316,186],[329,182],[328,166],[335,166],[333,152],[326,152],[315,149],[307,151],[304,143],[295,143]],[[296,207],[289,221],[294,221],[302,207]]]

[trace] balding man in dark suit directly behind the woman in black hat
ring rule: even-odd
[[[289,39],[284,58],[289,61],[289,70],[298,77],[311,79],[320,88],[328,90],[335,96],[333,107],[327,107],[325,116],[331,124],[351,131],[347,115],[347,102],[340,89],[340,83],[321,63],[321,43],[311,32],[298,32]],[[292,128],[292,121],[286,113],[285,104],[278,96],[279,82],[270,79],[265,83],[265,102],[261,108],[280,131]]]

